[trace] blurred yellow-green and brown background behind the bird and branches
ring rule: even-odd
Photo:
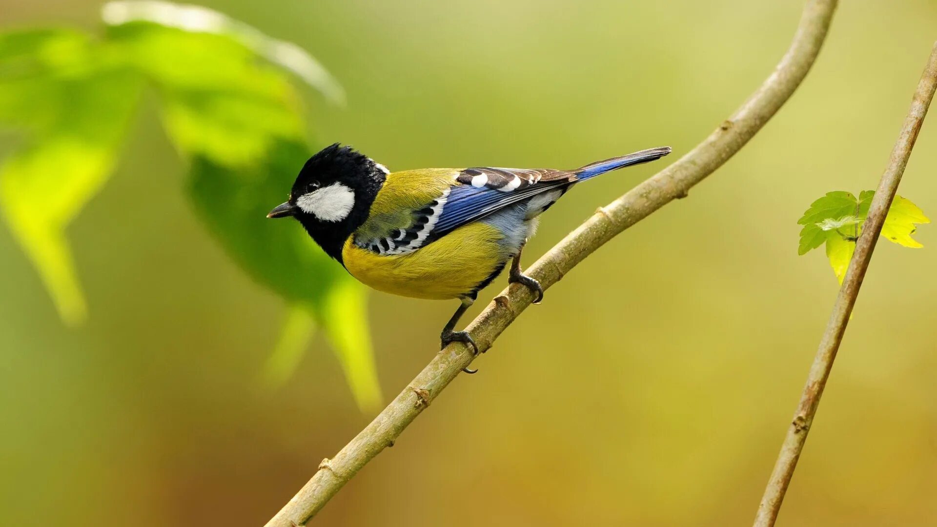
[[[204,5],[315,54],[348,104],[305,97],[311,133],[392,170],[567,168],[674,147],[575,188],[528,263],[728,116],[802,8]],[[0,23],[99,32],[99,8],[0,0]],[[875,187],[934,38],[930,0],[844,2],[807,81],[749,146],[548,291],[318,523],[750,523],[837,290],[822,251],[797,257],[796,219],[826,191]],[[373,416],[321,335],[287,384],[258,386],[284,302],[205,229],[186,163],[151,98],[143,107],[112,181],[67,232],[86,324],[62,324],[0,229],[4,525],[260,525]],[[14,144],[0,136],[0,155]],[[935,173],[930,122],[900,194],[931,218]],[[915,234],[918,250],[880,244],[781,524],[937,525],[933,231]],[[370,296],[385,399],[436,352],[454,308]]]

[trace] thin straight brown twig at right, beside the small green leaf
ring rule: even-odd
[[[791,476],[794,475],[797,459],[800,458],[800,452],[804,449],[804,442],[807,441],[807,433],[811,429],[813,416],[820,405],[820,397],[823,395],[826,379],[829,378],[829,372],[833,369],[833,360],[836,359],[836,352],[840,349],[840,341],[842,335],[846,332],[849,315],[853,312],[855,297],[859,294],[859,288],[862,287],[862,279],[865,278],[866,269],[869,268],[872,251],[875,249],[875,242],[878,241],[879,233],[882,232],[882,225],[885,224],[888,208],[898,191],[901,174],[904,173],[904,167],[908,164],[908,158],[911,157],[911,149],[915,146],[917,132],[920,131],[921,125],[924,123],[924,116],[928,113],[935,86],[937,86],[937,43],[934,44],[930,52],[928,66],[924,69],[920,82],[917,83],[915,97],[911,101],[911,111],[904,120],[898,142],[895,143],[895,148],[891,151],[888,168],[885,169],[879,187],[875,191],[875,197],[872,198],[869,216],[862,225],[862,233],[859,234],[855,242],[853,258],[850,260],[846,276],[842,280],[840,294],[836,297],[833,313],[826,324],[823,339],[820,340],[820,348],[813,359],[811,372],[807,377],[807,385],[804,386],[804,392],[797,404],[794,419],[787,429],[784,444],[781,445],[778,461],[775,463],[774,471],[768,480],[765,495],[758,506],[758,514],[755,516],[754,522],[755,527],[771,527],[778,519],[778,511],[781,510],[784,492],[787,491],[787,486],[791,483]]]

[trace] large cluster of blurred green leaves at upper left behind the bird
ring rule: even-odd
[[[274,222],[311,154],[286,68],[333,100],[344,96],[312,56],[207,8],[112,2],[106,38],[67,30],[0,35],[0,125],[25,134],[0,167],[3,217],[62,318],[86,305],[65,229],[112,172],[141,88],[154,83],[172,142],[191,160],[189,190],[232,257],[290,303],[270,375],[282,379],[311,337],[333,342],[362,408],[379,402],[364,289],[298,224]],[[279,67],[279,68],[276,68]]]

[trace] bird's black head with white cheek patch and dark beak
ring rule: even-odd
[[[298,219],[316,243],[341,262],[345,240],[364,223],[386,175],[383,165],[350,146],[326,146],[305,162],[290,199],[267,218]]]

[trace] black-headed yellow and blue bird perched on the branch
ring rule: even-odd
[[[508,281],[543,300],[524,274],[521,252],[540,215],[580,182],[669,154],[649,148],[574,170],[470,167],[391,172],[350,146],[335,143],[308,158],[288,200],[267,218],[296,218],[352,277],[390,294],[458,299],[439,335],[444,348],[478,346],[455,324],[479,291],[511,262]],[[475,370],[466,369],[473,373]]]

